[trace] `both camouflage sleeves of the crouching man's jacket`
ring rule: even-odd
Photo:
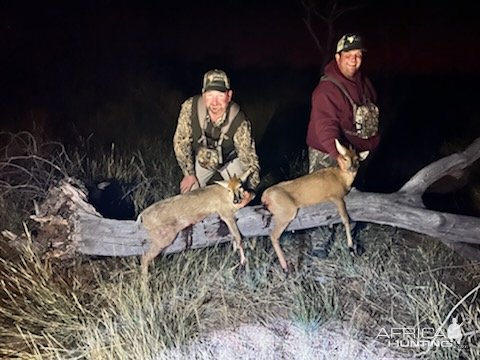
[[[177,129],[173,137],[173,150],[178,165],[184,176],[195,174],[195,152],[192,131],[192,104],[193,97],[187,99],[181,107],[178,116]],[[197,119],[195,119],[197,120]],[[248,120],[240,123],[233,135],[235,151],[245,171],[251,170],[252,174],[247,179],[247,188],[254,190],[260,183],[260,166],[255,141],[252,137],[251,125]]]

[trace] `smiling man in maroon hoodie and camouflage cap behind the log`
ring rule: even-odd
[[[339,154],[335,139],[358,152],[372,153],[379,144],[377,95],[360,71],[364,51],[359,35],[343,35],[335,58],[326,65],[325,74],[313,91],[307,131],[309,172],[336,166]],[[318,228],[305,234],[310,254],[326,257],[332,231]]]

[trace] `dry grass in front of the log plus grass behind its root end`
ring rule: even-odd
[[[178,174],[162,162],[171,155],[127,157],[113,147],[88,162],[79,153],[64,152],[58,165],[55,154],[45,155],[45,161],[2,161],[8,164],[4,169],[21,174],[49,174],[49,181],[35,182],[42,191],[64,173],[85,176],[88,164],[88,176],[139,181],[133,191],[148,200],[138,200],[138,207],[176,192]],[[18,166],[10,167],[14,163]],[[12,184],[3,184],[0,198],[11,202]],[[26,194],[18,194],[28,203]],[[17,221],[24,222],[19,228],[27,245],[17,252],[2,240],[0,247],[3,358],[480,357],[479,264],[436,239],[367,225],[357,234],[366,252],[352,259],[343,228],[335,226],[330,255],[321,260],[304,253],[300,237],[286,234],[282,247],[296,271],[285,278],[269,240],[251,238],[244,240],[243,269],[231,245],[222,244],[159,257],[145,282],[136,258],[41,259],[26,213]],[[2,224],[14,219],[7,212],[1,216]],[[452,316],[463,322],[461,346],[404,348],[379,337],[382,330],[400,328],[446,332]]]

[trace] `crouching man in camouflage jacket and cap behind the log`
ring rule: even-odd
[[[253,198],[260,182],[258,156],[251,124],[232,94],[225,72],[215,69],[204,75],[202,94],[182,104],[173,137],[181,193],[204,187],[216,173],[228,180],[249,172],[245,188],[248,201]]]

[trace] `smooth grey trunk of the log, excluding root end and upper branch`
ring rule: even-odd
[[[348,212],[355,221],[372,222],[412,230],[439,238],[445,243],[480,244],[480,219],[413,208],[398,203],[388,194],[351,193],[346,198]],[[368,204],[368,206],[365,206]],[[329,203],[300,209],[287,231],[340,223],[336,208]],[[237,225],[243,236],[269,235],[273,226],[270,213],[261,206],[249,206],[237,213]],[[141,255],[148,247],[148,235],[135,221],[84,216],[76,227],[78,250],[83,254]],[[191,248],[213,246],[231,241],[225,224],[216,215],[193,226]],[[182,231],[165,253],[183,251],[188,231]]]

